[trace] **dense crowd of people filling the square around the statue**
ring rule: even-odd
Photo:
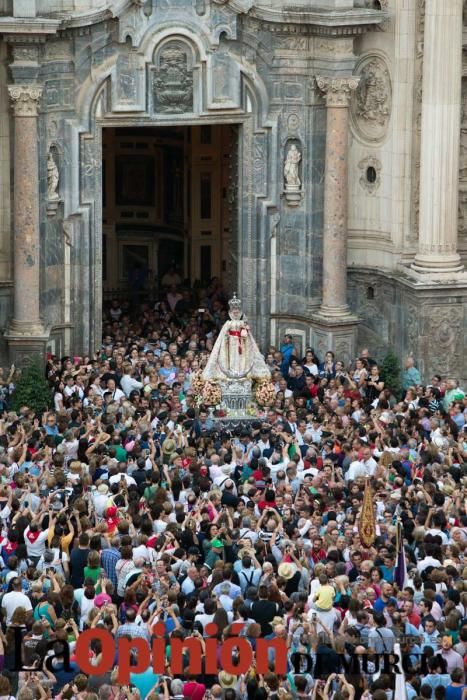
[[[11,411],[14,368],[0,373],[0,700],[465,700],[462,389],[407,358],[394,393],[368,349],[348,365],[286,336],[265,354],[273,405],[236,427],[192,387],[226,319],[218,280],[113,301],[93,356],[48,358],[42,415]],[[284,639],[286,673],[272,653],[267,673],[219,656],[195,675],[186,652],[174,674],[168,653],[164,674],[120,685],[118,640],[151,642],[157,622],[168,648],[203,644],[212,622],[219,648]],[[113,635],[114,665],[86,675],[74,651],[94,628]],[[378,667],[395,647],[402,686]],[[96,639],[96,669],[102,655]]]

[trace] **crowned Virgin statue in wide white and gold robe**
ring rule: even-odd
[[[242,302],[234,294],[229,301],[230,321],[221,328],[202,374],[206,382],[239,379],[268,380],[271,373],[251,334],[242,312]]]

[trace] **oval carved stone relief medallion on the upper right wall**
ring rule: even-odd
[[[380,141],[387,133],[391,116],[391,78],[383,59],[366,56],[357,67],[360,83],[352,101],[352,115],[359,134]]]

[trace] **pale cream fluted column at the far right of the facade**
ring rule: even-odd
[[[462,0],[426,0],[417,272],[458,272]]]

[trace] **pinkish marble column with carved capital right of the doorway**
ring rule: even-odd
[[[359,79],[317,78],[326,94],[324,178],[323,302],[320,315],[341,318],[347,305],[347,146],[349,102]]]

